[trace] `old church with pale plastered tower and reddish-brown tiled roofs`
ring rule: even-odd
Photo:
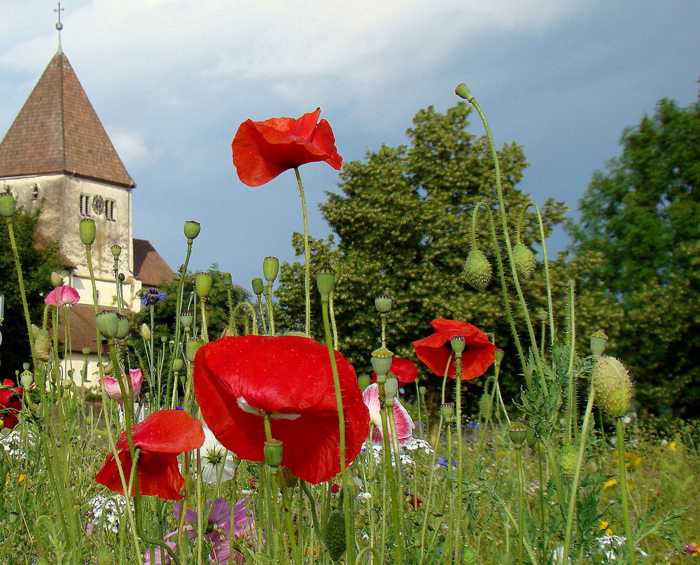
[[[25,210],[41,210],[38,236],[59,242],[64,284],[80,294],[80,302],[69,310],[71,351],[62,363],[64,371],[75,369],[73,379],[78,385],[96,384],[99,347],[92,283],[78,231],[80,220],[92,218],[97,228],[92,263],[100,310],[121,306],[125,313],[137,311],[142,289],[174,275],[151,243],[133,236],[134,187],[136,183],[59,47],[0,143],[0,189],[10,189]],[[125,276],[121,305],[113,245],[121,248],[119,271]],[[80,375],[85,348],[90,350],[87,382]]]

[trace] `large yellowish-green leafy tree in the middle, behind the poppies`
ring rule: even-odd
[[[369,369],[370,352],[379,345],[374,296],[388,294],[395,308],[389,316],[387,345],[396,355],[415,359],[412,341],[432,332],[430,320],[447,317],[493,332],[509,359],[504,364],[506,373],[520,373],[500,285],[491,283],[486,291],[477,292],[462,275],[470,250],[473,208],[479,201],[492,209],[498,206],[489,147],[485,137],[468,131],[470,111],[464,103],[444,114],[432,107],[419,111],[414,127],[407,131],[409,145],[383,145],[369,152],[365,162],[346,163],[340,175],[342,194],[329,194],[321,206],[335,236],[311,242],[312,269],[329,259],[342,265],[342,279],[334,292],[339,350],[358,371]],[[499,159],[510,235],[514,236],[521,208],[529,201],[514,186],[527,164],[522,148],[515,143],[503,145]],[[545,234],[563,222],[564,210],[563,203],[547,200],[542,207]],[[535,232],[535,222],[526,222],[524,243],[533,243]],[[477,239],[492,257],[488,234],[482,216],[477,222]],[[301,243],[302,237],[295,234],[297,253]],[[281,281],[279,304],[288,325],[298,329],[304,308],[301,265],[283,264]],[[534,311],[545,306],[543,285],[541,273],[524,283]],[[565,286],[560,284],[555,292],[563,296]],[[514,300],[512,305],[518,317]],[[321,336],[318,299],[315,308],[316,336]],[[512,380],[510,387],[517,390],[519,380]]]

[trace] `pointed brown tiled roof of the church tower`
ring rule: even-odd
[[[0,178],[50,174],[136,185],[60,49],[0,143]]]

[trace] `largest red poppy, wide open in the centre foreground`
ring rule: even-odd
[[[335,353],[345,415],[346,461],[369,431],[352,365]],[[225,337],[195,357],[195,397],[218,441],[240,459],[265,459],[263,415],[282,441],[282,465],[318,484],[340,472],[338,413],[328,348],[301,336]]]

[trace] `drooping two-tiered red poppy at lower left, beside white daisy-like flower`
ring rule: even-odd
[[[180,489],[185,485],[185,480],[180,473],[177,456],[202,447],[202,422],[190,417],[184,410],[160,410],[132,426],[132,436],[134,447],[141,450],[136,464],[139,492],[167,500],[183,499]],[[116,448],[119,464],[128,480],[132,458],[126,432],[119,436]],[[113,453],[107,455],[94,480],[113,492],[124,494]]]

